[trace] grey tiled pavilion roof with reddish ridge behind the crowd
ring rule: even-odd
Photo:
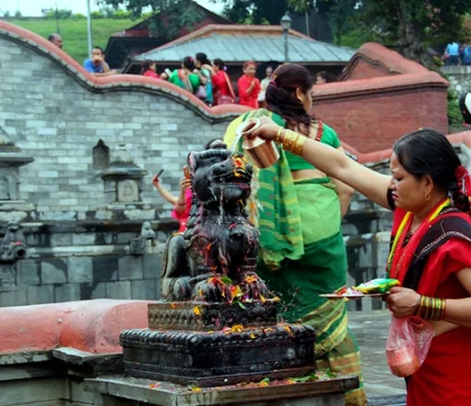
[[[210,59],[220,58],[225,63],[267,62],[284,60],[284,43],[280,26],[219,26],[210,25],[171,43],[134,57],[159,62],[180,62],[187,55],[205,52]],[[288,57],[290,62],[303,64],[344,64],[355,50],[313,40],[290,30]]]

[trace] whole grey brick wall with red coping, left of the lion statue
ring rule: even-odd
[[[210,109],[164,81],[92,77],[1,21],[0,55],[0,228],[20,222],[27,245],[26,259],[0,259],[0,306],[158,299],[164,243],[178,223],[151,176],[164,169],[162,184],[178,193],[188,152],[222,137],[246,108]],[[146,220],[155,238],[135,252]]]

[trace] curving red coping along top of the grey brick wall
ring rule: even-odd
[[[82,86],[95,91],[108,91],[110,89],[126,90],[135,87],[142,91],[153,91],[157,94],[166,94],[178,98],[183,102],[191,103],[191,106],[202,115],[219,119],[227,115],[237,116],[246,113],[250,108],[237,104],[225,104],[223,106],[208,107],[203,101],[185,89],[181,89],[168,81],[143,77],[135,74],[116,74],[108,77],[95,77],[86,72],[76,60],[64,52],[59,47],[50,43],[46,38],[32,33],[29,30],[15,26],[5,21],[0,21],[0,36],[4,38],[14,38],[19,43],[27,47],[33,47],[45,57],[50,57],[62,65],[64,70],[69,71],[74,79]]]

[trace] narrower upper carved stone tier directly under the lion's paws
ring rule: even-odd
[[[254,300],[244,304],[205,302],[159,302],[148,305],[150,329],[216,331],[225,327],[276,325],[277,303]]]

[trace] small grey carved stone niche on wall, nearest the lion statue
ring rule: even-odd
[[[105,203],[132,204],[142,202],[142,178],[148,171],[138,167],[124,144],[118,145],[110,164],[101,171],[105,182]]]

